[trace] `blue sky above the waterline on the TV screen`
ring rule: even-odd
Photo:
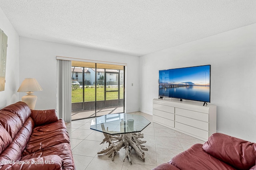
[[[210,85],[210,65],[159,70],[159,83],[192,82],[194,85]]]

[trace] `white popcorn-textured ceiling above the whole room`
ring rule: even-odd
[[[256,0],[1,0],[20,36],[146,55],[256,23]]]

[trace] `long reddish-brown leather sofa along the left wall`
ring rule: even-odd
[[[0,110],[0,169],[76,169],[65,122],[56,110],[30,110],[24,102]]]

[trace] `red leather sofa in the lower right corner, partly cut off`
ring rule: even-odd
[[[153,170],[256,170],[256,143],[214,133]]]

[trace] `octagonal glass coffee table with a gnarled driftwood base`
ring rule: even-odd
[[[90,129],[102,132],[104,139],[102,143],[108,143],[108,148],[98,152],[98,154],[107,154],[112,156],[114,160],[115,154],[121,149],[125,149],[124,160],[127,157],[132,163],[130,152],[135,150],[139,158],[145,161],[143,150],[148,150],[142,144],[143,134],[140,133],[144,128],[150,124],[142,115],[133,115],[128,113],[116,113],[110,115],[103,115],[92,119]],[[100,144],[102,144],[100,143]],[[123,161],[124,161],[123,160]]]

